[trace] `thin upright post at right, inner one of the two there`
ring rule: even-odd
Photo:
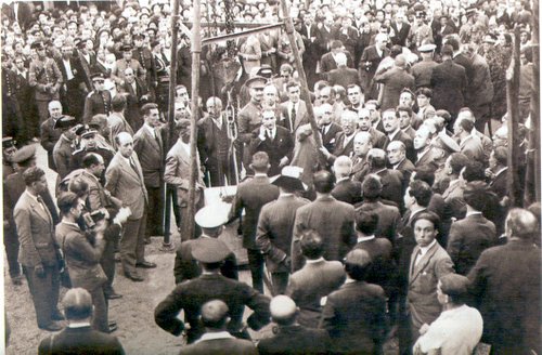
[[[508,169],[506,170],[506,184],[508,188],[509,206],[520,207],[519,196],[520,182],[518,179],[519,161],[519,27],[514,28],[514,52],[512,62],[506,70],[506,104],[507,104],[507,127],[508,127]],[[522,182],[521,182],[522,184]]]

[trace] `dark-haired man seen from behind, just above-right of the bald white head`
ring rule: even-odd
[[[346,275],[339,261],[326,261],[323,238],[313,229],[302,233],[300,249],[307,263],[289,277],[286,294],[299,307],[298,321],[308,328],[318,328],[322,314],[321,299],[338,289]]]

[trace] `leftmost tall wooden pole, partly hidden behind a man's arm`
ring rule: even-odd
[[[178,26],[179,16],[179,1],[173,0],[173,9],[171,12],[171,66],[169,67],[169,95],[168,95],[168,139],[165,148],[167,152],[173,146],[176,137],[175,132],[175,87],[177,84],[177,41],[178,41]],[[171,236],[171,203],[172,203],[172,189],[166,188],[166,210],[164,213],[164,241],[162,250],[173,250],[173,244],[170,240]]]

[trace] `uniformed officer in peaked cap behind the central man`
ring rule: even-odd
[[[250,102],[237,115],[237,150],[243,152],[243,165],[247,170],[247,174],[251,174],[251,169],[249,168],[251,156],[248,145],[253,140],[253,132],[261,126],[261,103],[267,81],[266,78],[260,76],[246,81],[246,86],[250,92]]]

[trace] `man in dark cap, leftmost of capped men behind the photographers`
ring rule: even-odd
[[[72,155],[75,150],[74,140],[77,136],[75,117],[62,116],[54,122],[54,129],[61,130],[62,134],[53,147],[53,160],[56,172],[64,179],[73,170]]]

